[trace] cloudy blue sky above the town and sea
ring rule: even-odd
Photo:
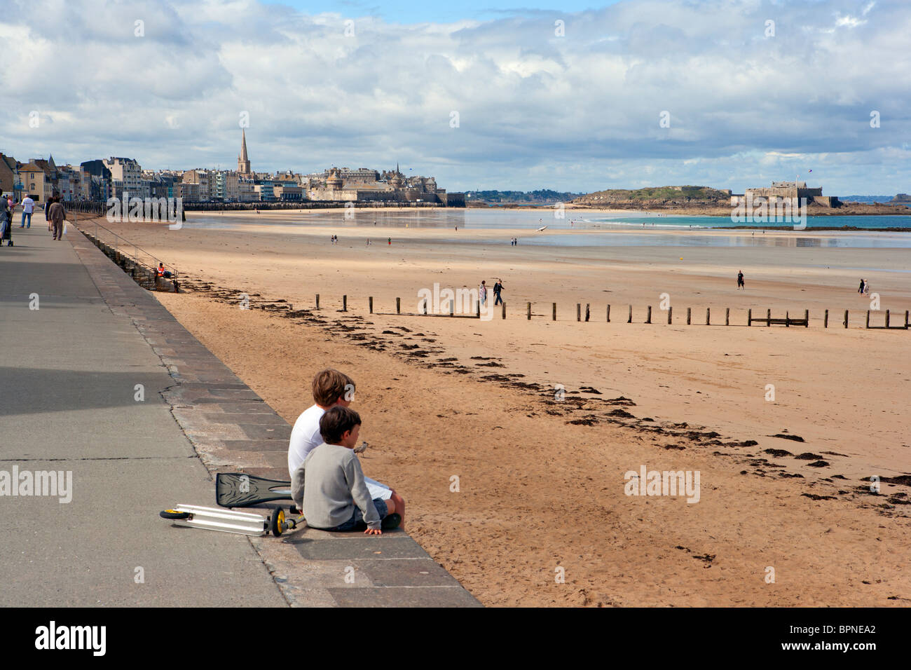
[[[908,0],[0,0],[0,151],[911,192]],[[60,29],[48,29],[58,26]],[[812,170],[812,171],[811,171]]]

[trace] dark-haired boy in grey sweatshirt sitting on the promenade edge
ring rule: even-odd
[[[364,533],[380,535],[403,521],[398,495],[371,500],[353,452],[360,431],[361,417],[348,407],[331,407],[320,418],[323,442],[294,470],[291,482],[292,499],[311,528],[354,531],[366,525]]]

